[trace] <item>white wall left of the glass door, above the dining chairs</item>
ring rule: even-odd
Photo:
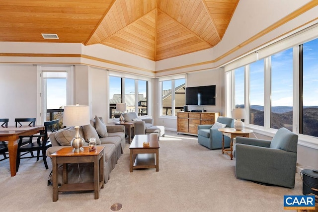
[[[11,126],[15,118],[37,117],[36,73],[33,65],[0,64],[0,118]]]

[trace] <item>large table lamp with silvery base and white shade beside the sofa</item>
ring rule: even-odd
[[[89,106],[78,104],[64,106],[63,125],[75,126],[76,135],[71,141],[71,145],[74,147],[73,152],[83,151],[84,139],[79,135],[79,128],[89,125]]]

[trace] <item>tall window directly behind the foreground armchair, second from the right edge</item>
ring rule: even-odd
[[[270,127],[293,131],[293,49],[270,57],[271,121]]]

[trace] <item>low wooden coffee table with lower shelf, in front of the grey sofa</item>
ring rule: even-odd
[[[149,142],[149,147],[144,147],[144,142]],[[156,171],[159,171],[159,140],[157,134],[135,135],[129,149],[130,172],[139,168],[156,168]]]

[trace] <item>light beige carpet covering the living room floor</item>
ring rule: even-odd
[[[279,212],[284,195],[302,195],[302,180],[296,174],[294,189],[264,186],[235,177],[235,159],[198,144],[197,137],[166,132],[160,138],[159,172],[156,169],[129,172],[129,144],[111,179],[94,200],[93,192],[59,194],[52,202],[47,186],[49,169],[43,161],[23,159],[19,172],[10,177],[9,160],[0,162],[0,211],[111,212]]]

